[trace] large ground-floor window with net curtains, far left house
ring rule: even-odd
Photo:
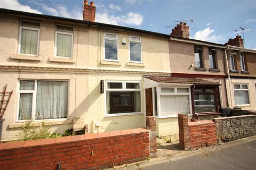
[[[68,116],[68,81],[20,80],[17,121]]]

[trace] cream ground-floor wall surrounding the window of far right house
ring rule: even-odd
[[[229,89],[229,81],[226,79],[227,83],[227,96],[228,96],[228,101],[229,104],[231,104],[229,107],[241,107],[244,110],[250,110],[250,111],[256,111],[256,88],[255,88],[255,83],[256,80],[250,80],[250,79],[230,79],[231,81],[231,92]],[[235,95],[234,95],[234,84],[248,84],[249,88],[249,100],[250,100],[250,105],[248,106],[235,106]],[[230,100],[231,96],[231,100]]]

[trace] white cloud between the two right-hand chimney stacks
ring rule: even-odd
[[[212,35],[214,31],[214,29],[207,27],[202,31],[197,31],[194,35],[194,39],[209,41],[212,43],[220,43],[221,41],[225,40],[221,35]]]

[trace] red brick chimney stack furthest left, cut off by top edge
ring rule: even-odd
[[[84,21],[91,21],[94,22],[95,20],[95,12],[96,7],[94,6],[94,2],[89,2],[87,0],[84,0],[83,4],[83,20]]]

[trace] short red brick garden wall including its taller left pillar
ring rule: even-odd
[[[188,122],[188,115],[179,114],[180,146],[197,149],[217,144],[216,124],[212,121]]]

